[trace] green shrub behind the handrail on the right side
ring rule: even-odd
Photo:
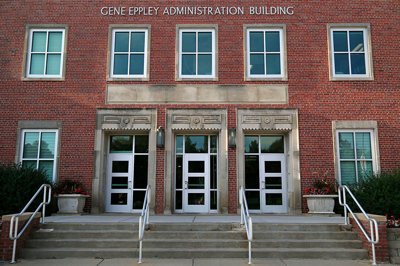
[[[362,177],[348,187],[366,213],[400,219],[400,167]],[[351,210],[359,212],[349,196],[346,199]]]

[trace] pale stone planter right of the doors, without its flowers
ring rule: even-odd
[[[334,198],[338,195],[304,195],[307,199],[309,214],[334,214]]]

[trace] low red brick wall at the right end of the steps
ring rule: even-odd
[[[361,229],[358,227],[357,223],[353,218],[350,218],[350,224],[352,227],[352,231],[357,233],[357,238],[362,241],[364,244],[364,249],[369,253],[369,259],[372,260],[372,245],[365,238],[364,233],[362,233]],[[362,228],[366,232],[366,234],[371,236],[371,230],[369,226],[369,221],[359,221],[362,225]],[[375,258],[378,263],[389,263],[389,247],[387,244],[387,233],[386,233],[386,222],[377,222],[378,224],[378,236],[379,241],[375,244]]]

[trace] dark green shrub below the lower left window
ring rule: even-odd
[[[51,184],[45,171],[20,165],[0,165],[0,216],[20,213],[42,184]],[[36,210],[43,201],[37,195],[27,212]]]

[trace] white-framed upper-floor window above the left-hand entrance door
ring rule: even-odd
[[[148,76],[148,29],[112,29],[110,78]]]

